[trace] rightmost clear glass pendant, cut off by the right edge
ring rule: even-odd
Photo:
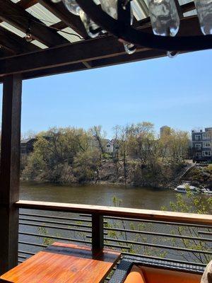
[[[212,35],[212,0],[194,0],[201,31]]]

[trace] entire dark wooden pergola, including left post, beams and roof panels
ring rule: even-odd
[[[179,1],[180,35],[201,35],[194,2]],[[88,38],[78,16],[60,2],[0,0],[0,81],[4,84],[1,129],[0,274],[17,264],[21,89],[24,79],[94,69],[166,56],[137,47],[126,54],[113,35]],[[152,33],[148,6],[134,0],[134,27]],[[32,42],[25,40],[30,25]]]

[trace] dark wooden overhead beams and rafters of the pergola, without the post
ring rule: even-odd
[[[8,30],[5,31],[4,40],[0,36],[0,45],[4,47],[1,48],[0,55],[4,56],[4,51],[6,56],[8,54],[15,55],[0,58],[0,81],[8,74],[22,74],[23,79],[31,79],[165,56],[163,51],[150,50],[144,47],[138,47],[135,54],[128,55],[125,53],[122,43],[111,35],[67,43],[68,41],[59,35],[56,30],[39,23],[37,18],[25,11],[25,8],[40,3],[61,20],[52,25],[53,28],[63,29],[70,26],[81,37],[87,38],[86,30],[80,18],[69,13],[62,3],[53,4],[51,0],[20,0],[17,4],[14,4],[10,0],[0,0],[0,4],[3,3],[3,10],[0,11],[0,18],[3,21],[23,31],[28,25],[29,18],[33,22],[31,28],[33,37],[50,48],[38,50],[37,47],[25,42],[18,35],[12,35]],[[194,9],[194,2],[182,5],[181,9],[182,13],[191,11]],[[9,16],[10,13],[13,13],[14,17]],[[134,26],[146,33],[152,33],[150,18],[136,21]],[[0,28],[0,35],[3,35],[3,32],[4,28]],[[179,35],[187,34],[201,34],[196,16],[182,18]]]

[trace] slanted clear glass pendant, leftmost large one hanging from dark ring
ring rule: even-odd
[[[100,35],[102,29],[86,15],[86,13],[76,3],[76,0],[63,0],[63,2],[69,12],[81,17],[81,21],[83,22],[83,25],[90,37],[97,37]]]

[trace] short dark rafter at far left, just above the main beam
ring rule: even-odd
[[[11,33],[6,28],[0,26],[0,45],[7,50],[11,50],[13,54],[20,54],[26,52],[33,52],[40,50],[39,47],[32,43],[26,42],[25,38],[22,38],[15,33]]]

